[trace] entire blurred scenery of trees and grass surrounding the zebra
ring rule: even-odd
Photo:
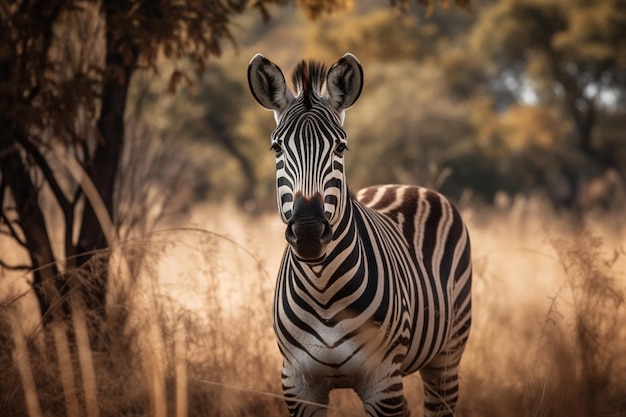
[[[247,65],[346,52],[351,190],[434,188],[470,227],[460,415],[626,415],[625,6],[3,2],[0,415],[286,415],[275,122]]]

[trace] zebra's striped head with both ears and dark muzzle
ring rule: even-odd
[[[348,136],[344,115],[361,94],[363,70],[346,54],[326,68],[302,61],[293,76],[295,94],[277,65],[257,54],[248,67],[254,98],[274,111],[278,210],[287,224],[285,237],[305,261],[325,257],[333,226],[348,199],[344,151]]]

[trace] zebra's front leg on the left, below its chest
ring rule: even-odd
[[[322,383],[313,383],[287,364],[283,364],[281,377],[283,395],[291,417],[326,417],[328,387]]]

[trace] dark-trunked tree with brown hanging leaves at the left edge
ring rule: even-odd
[[[229,19],[244,6],[221,0],[20,0],[0,6],[0,231],[28,257],[20,265],[0,262],[33,271],[42,317],[75,285],[70,272],[89,264],[115,235],[102,219],[115,217],[133,74],[154,68],[159,53],[201,70],[220,54],[222,40],[234,42]],[[72,178],[71,166],[87,181]],[[86,198],[85,183],[97,191],[96,199]],[[43,205],[46,195],[61,212],[61,248],[49,236],[56,225]],[[84,302],[102,316],[106,270],[92,276],[83,287]]]

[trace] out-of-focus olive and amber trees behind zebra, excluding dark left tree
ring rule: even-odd
[[[273,208],[265,152],[273,120],[251,100],[247,61],[261,52],[290,74],[300,59],[330,65],[352,52],[366,77],[346,118],[354,190],[422,184],[456,202],[537,197],[578,214],[623,206],[626,15],[619,2],[478,0],[469,11],[340,6],[313,20],[294,5],[272,8],[267,23],[245,13],[231,29],[237,48],[225,45],[201,77],[176,85],[176,95],[166,86],[175,71],[192,77],[185,62],[168,60],[157,77],[137,77],[130,99],[141,105],[128,120],[149,125],[167,146],[194,149],[186,152],[194,180],[181,192]]]

